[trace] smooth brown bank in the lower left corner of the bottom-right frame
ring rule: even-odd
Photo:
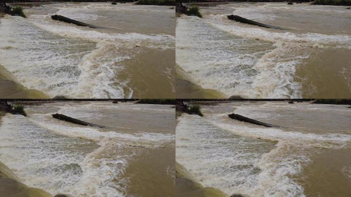
[[[175,196],[182,197],[226,197],[212,187],[203,187],[182,165],[175,162]]]

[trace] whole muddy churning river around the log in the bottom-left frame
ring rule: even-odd
[[[153,155],[161,147],[174,153],[174,110],[169,106],[56,103],[28,106],[27,112],[28,117],[10,114],[2,117],[0,161],[27,186],[44,189],[53,195],[150,196],[134,191],[141,186],[149,189],[157,175],[153,175],[153,181],[148,183],[135,183],[133,176],[138,178],[140,174],[133,166],[139,163],[141,155]],[[59,121],[52,118],[54,112],[108,128]],[[133,113],[140,116],[134,115],[131,120]],[[152,123],[143,118],[151,113],[157,119]],[[120,123],[116,123],[117,118]],[[145,122],[148,122],[148,128],[145,128]],[[160,124],[164,126],[158,126]],[[148,163],[154,165],[153,161]],[[163,165],[158,170],[162,173],[159,179],[165,183],[159,187],[162,190],[168,187],[167,181],[173,179],[174,168]]]

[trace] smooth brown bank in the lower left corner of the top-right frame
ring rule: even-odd
[[[175,92],[178,99],[227,99],[224,93],[213,90],[204,89],[193,83],[185,71],[175,65]]]

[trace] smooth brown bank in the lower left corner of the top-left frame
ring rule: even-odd
[[[49,99],[39,90],[27,89],[17,83],[15,77],[0,65],[0,98],[1,99]]]

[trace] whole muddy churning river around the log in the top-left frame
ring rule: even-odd
[[[147,54],[159,58],[162,53],[174,53],[174,11],[168,7],[48,4],[25,13],[28,18],[5,16],[0,21],[0,64],[25,87],[50,97],[138,97],[145,92],[136,82],[152,83],[134,71],[146,64],[158,70],[153,73],[155,79],[169,86],[158,96],[174,97],[174,55],[161,68],[142,59]],[[54,21],[52,14],[106,28]],[[157,23],[165,25],[155,27]]]

